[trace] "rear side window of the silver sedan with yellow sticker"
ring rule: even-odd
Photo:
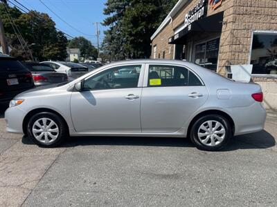
[[[202,82],[190,70],[179,66],[150,65],[149,87],[202,86]]]

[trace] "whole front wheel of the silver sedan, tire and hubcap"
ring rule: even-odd
[[[28,137],[38,146],[56,147],[62,144],[68,132],[64,120],[51,112],[39,112],[28,121]]]

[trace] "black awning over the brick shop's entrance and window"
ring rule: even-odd
[[[184,44],[186,36],[192,32],[221,32],[223,13],[224,12],[219,12],[198,21],[194,21],[190,24],[190,26],[170,37],[170,39],[168,39],[168,43]]]

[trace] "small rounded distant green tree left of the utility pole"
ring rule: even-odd
[[[98,57],[97,49],[91,44],[91,41],[84,37],[75,37],[68,43],[69,48],[79,48],[81,56],[84,59],[96,59]]]

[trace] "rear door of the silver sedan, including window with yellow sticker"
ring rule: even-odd
[[[176,132],[208,99],[206,86],[183,66],[147,64],[145,68],[142,132]]]

